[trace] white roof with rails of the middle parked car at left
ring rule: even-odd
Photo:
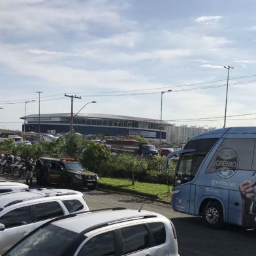
[[[7,204],[14,205],[20,202],[29,202],[31,200],[59,199],[60,196],[67,195],[82,195],[79,191],[70,189],[27,189],[25,191],[18,191],[13,193],[5,193],[0,195],[0,208],[7,207]]]

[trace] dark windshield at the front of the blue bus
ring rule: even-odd
[[[203,138],[191,140],[185,144],[184,150],[193,148],[195,151],[180,155],[176,167],[175,180],[177,185],[189,182],[195,178],[204,157],[210,152],[217,140],[218,138]]]

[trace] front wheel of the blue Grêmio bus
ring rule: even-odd
[[[216,201],[208,202],[204,206],[203,219],[204,223],[212,229],[223,227],[223,210],[221,204]]]

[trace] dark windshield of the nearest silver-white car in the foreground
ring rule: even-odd
[[[27,236],[25,240],[10,249],[6,256],[55,256],[76,234],[50,224]]]

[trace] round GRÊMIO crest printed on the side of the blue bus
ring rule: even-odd
[[[231,148],[223,148],[214,159],[214,168],[221,178],[231,178],[238,168],[238,156]]]

